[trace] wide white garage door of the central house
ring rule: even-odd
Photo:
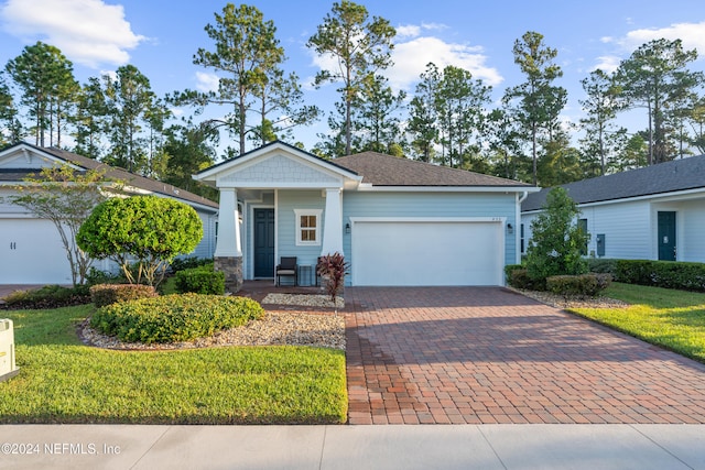
[[[352,285],[501,285],[501,221],[354,221]]]

